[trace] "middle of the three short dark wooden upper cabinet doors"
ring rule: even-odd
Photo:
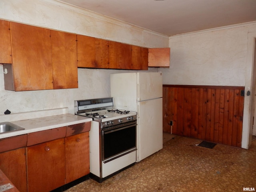
[[[108,60],[110,69],[132,69],[132,45],[109,41]]]

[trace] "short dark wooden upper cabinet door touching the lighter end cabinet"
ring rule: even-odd
[[[132,68],[134,70],[148,70],[148,48],[132,46]]]

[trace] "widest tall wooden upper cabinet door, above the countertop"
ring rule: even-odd
[[[15,91],[52,89],[50,30],[10,22]]]

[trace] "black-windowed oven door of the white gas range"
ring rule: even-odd
[[[102,130],[102,161],[109,162],[136,150],[136,121]]]

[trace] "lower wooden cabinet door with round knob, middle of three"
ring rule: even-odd
[[[64,138],[29,146],[28,192],[49,192],[65,184]]]

